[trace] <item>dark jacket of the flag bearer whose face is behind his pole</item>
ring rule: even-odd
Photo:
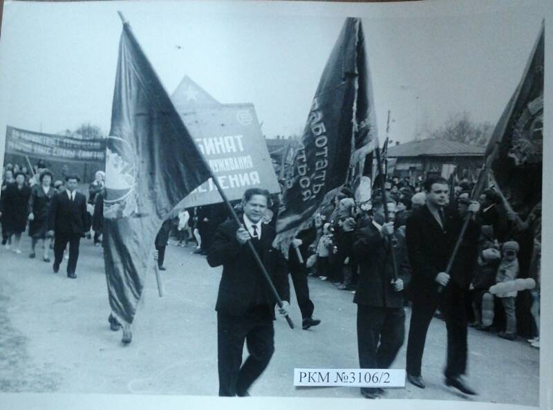
[[[391,238],[384,238],[373,223],[355,231],[353,254],[359,263],[359,281],[353,302],[355,304],[384,308],[403,307],[403,293],[391,285],[393,259],[390,250],[393,243],[397,277],[402,279],[404,289],[409,285],[411,268],[407,259],[405,237],[395,231]]]

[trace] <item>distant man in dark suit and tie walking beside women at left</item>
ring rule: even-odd
[[[66,190],[55,194],[50,208],[48,227],[54,234],[54,266],[55,273],[64,259],[64,251],[69,243],[69,260],[67,262],[67,277],[75,279],[75,269],[79,258],[79,243],[86,229],[86,196],[77,192],[79,177],[68,175]]]

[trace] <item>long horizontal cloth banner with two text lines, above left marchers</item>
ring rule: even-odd
[[[6,127],[6,153],[63,162],[104,162],[104,140],[80,140]]]

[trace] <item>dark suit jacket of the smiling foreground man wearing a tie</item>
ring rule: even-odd
[[[215,310],[232,316],[241,316],[255,302],[258,286],[263,288],[264,298],[271,306],[274,318],[276,300],[265,285],[263,274],[256,267],[247,244],[236,240],[238,225],[235,221],[226,221],[218,226],[211,247],[207,252],[207,263],[213,268],[223,265],[223,274]],[[259,257],[267,269],[274,287],[281,299],[290,301],[288,285],[288,267],[279,250],[272,247],[275,232],[269,225],[262,224],[259,239]]]

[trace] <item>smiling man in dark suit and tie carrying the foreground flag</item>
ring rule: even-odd
[[[275,232],[262,218],[269,192],[247,189],[243,198],[243,225],[227,221],[219,225],[207,253],[207,263],[223,265],[217,297],[219,395],[245,396],[263,373],[274,352],[274,305],[256,261],[246,245],[252,241],[288,313],[288,268],[282,254],[272,248]],[[244,340],[250,356],[242,365]]]

